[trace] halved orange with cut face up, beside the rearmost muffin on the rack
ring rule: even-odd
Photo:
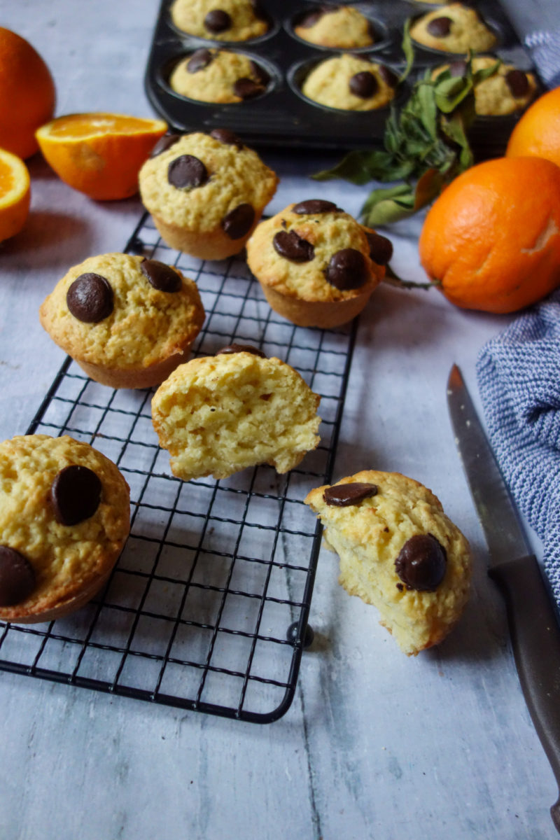
[[[44,159],[62,181],[100,201],[138,192],[138,173],[165,134],[161,119],[71,113],[35,132]]]

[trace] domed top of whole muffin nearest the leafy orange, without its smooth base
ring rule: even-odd
[[[264,286],[288,297],[342,301],[382,280],[388,243],[332,202],[310,199],[259,223],[247,261]]]

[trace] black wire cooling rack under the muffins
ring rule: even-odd
[[[183,482],[151,423],[152,390],[113,391],[65,360],[28,433],[70,434],[131,489],[131,530],[100,596],[37,625],[0,622],[0,669],[250,722],[290,707],[305,646],[321,526],[304,505],[330,483],[356,324],[323,331],[272,312],[242,258],[170,249],[145,214],[127,253],[176,265],[207,312],[192,354],[254,344],[321,395],[321,444],[297,469]]]

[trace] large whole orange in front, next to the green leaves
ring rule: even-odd
[[[534,157],[486,160],[427,213],[421,264],[449,301],[516,312],[560,286],[560,167]]]

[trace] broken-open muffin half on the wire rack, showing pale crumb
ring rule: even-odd
[[[155,392],[152,420],[185,481],[259,464],[284,473],[319,443],[319,401],[290,365],[233,344],[177,368]]]

